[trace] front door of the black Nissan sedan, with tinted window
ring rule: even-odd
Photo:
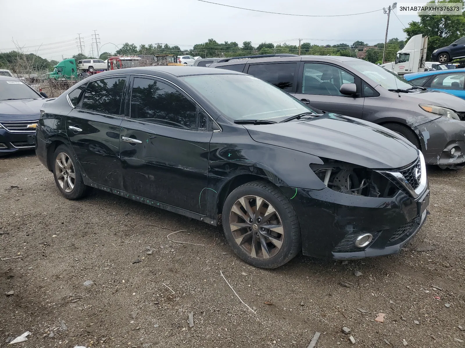
[[[124,190],[205,215],[213,134],[205,112],[168,81],[136,76],[131,84],[120,132]]]

